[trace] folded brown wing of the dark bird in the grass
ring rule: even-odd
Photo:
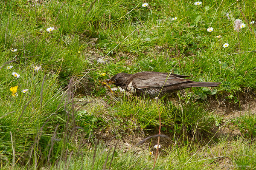
[[[170,74],[147,74],[145,76],[134,77],[132,84],[136,88],[159,88],[169,85],[176,85],[189,82],[190,79],[178,78]]]

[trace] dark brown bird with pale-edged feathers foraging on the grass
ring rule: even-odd
[[[185,88],[218,87],[221,84],[219,82],[194,82],[191,79],[184,79],[186,77],[190,76],[143,71],[135,74],[118,73],[105,81],[135,96],[148,95],[152,98],[161,98]]]

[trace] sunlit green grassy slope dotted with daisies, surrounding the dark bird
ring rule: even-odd
[[[183,107],[161,101],[163,133],[171,132],[172,136],[177,135],[177,139],[174,137],[173,140],[175,144],[178,140],[177,143],[181,145],[180,150],[175,147],[163,148],[166,156],[160,157],[159,169],[218,167],[218,160],[223,157],[217,161],[215,157],[226,155],[223,146],[234,148],[227,151],[229,155],[248,155],[229,156],[233,165],[251,165],[256,155],[250,150],[255,146],[253,140],[241,138],[227,144],[227,139],[223,139],[222,143],[215,144],[215,147],[222,148],[222,152],[216,154],[210,148],[200,151],[197,140],[190,142],[191,139],[187,136],[195,134],[195,131],[208,134],[213,123],[220,122],[218,116],[204,111],[203,102],[193,104],[192,101],[205,99],[208,94],[216,92],[217,95],[229,94],[229,98],[233,99],[235,93],[242,88],[255,89],[255,53],[227,54],[255,49],[255,25],[250,25],[253,33],[249,26],[242,28],[238,39],[238,33],[233,29],[233,21],[239,18],[245,23],[238,7],[241,7],[248,22],[255,20],[253,9],[256,4],[253,1],[218,1],[203,2],[201,6],[195,6],[190,1],[157,0],[148,2],[148,7],[141,7],[140,1],[103,0],[96,1],[86,15],[90,3],[81,0],[65,3],[46,1],[36,6],[26,0],[1,3],[0,65],[14,60],[0,69],[1,166],[8,169],[12,165],[12,143],[15,143],[17,166],[20,166],[20,162],[27,163],[29,160],[35,165],[37,159],[41,160],[48,155],[56,126],[58,140],[52,147],[49,160],[51,162],[59,156],[64,157],[67,148],[69,154],[72,150],[77,151],[77,143],[73,137],[80,140],[79,136],[84,134],[88,138],[93,130],[102,125],[111,133],[117,134],[157,128],[158,113],[154,100],[137,99],[119,92],[116,93],[119,100],[105,95],[108,90],[100,85],[99,80],[107,79],[121,71],[174,71],[177,74],[192,75],[192,79],[197,81],[222,83],[220,88],[211,91],[209,88],[192,88],[185,91],[185,94],[179,93],[179,104],[188,103]],[[225,16],[227,12],[230,14],[230,20]],[[177,17],[177,20],[172,20],[172,17]],[[48,33],[46,29],[50,26],[55,27],[55,30]],[[214,28],[213,32],[206,31],[210,26]],[[137,28],[140,28],[139,31],[131,34]],[[128,36],[129,34],[131,35]],[[216,38],[217,35],[222,38]],[[98,39],[93,42],[92,38]],[[116,47],[122,40],[124,41]],[[230,45],[223,48],[222,45],[226,42]],[[12,48],[17,48],[17,52],[10,51]],[[111,52],[113,48],[115,49]],[[95,54],[104,57],[109,52],[111,53],[105,57],[107,64],[97,63]],[[14,67],[7,70],[8,65]],[[42,69],[35,71],[36,65],[40,65]],[[14,71],[20,74],[20,78],[12,76]],[[77,90],[83,91],[82,87],[88,86],[90,92],[83,97],[84,101],[96,101],[96,97],[100,101],[75,112],[75,118],[71,115],[74,110],[70,101],[72,97],[67,93],[70,91],[66,91],[71,77],[73,82],[81,79],[81,82],[74,86]],[[12,97],[9,90],[16,85],[17,98]],[[23,94],[22,89],[29,90]],[[77,110],[79,106],[75,108]],[[73,135],[72,130],[74,119],[78,126],[84,128],[78,130],[77,135]],[[243,120],[235,122],[245,127],[245,130],[241,131],[250,131],[250,136],[255,137],[255,116],[243,117]],[[14,142],[11,141],[10,132]],[[185,137],[180,137],[182,134]],[[190,147],[186,145],[188,143]],[[30,156],[31,148],[35,151]],[[90,161],[93,154],[88,148],[87,145],[83,147],[83,152],[87,155],[84,159]],[[191,155],[199,151],[201,154],[191,159]],[[140,161],[140,157],[134,156],[134,153],[136,152],[130,150],[123,154],[122,149],[118,150],[118,158],[112,163],[113,169],[118,169],[118,164],[124,161],[128,162],[127,155],[130,156],[129,160],[131,158],[127,169],[152,167],[153,159],[148,158],[148,153],[142,154],[147,158],[144,163]],[[105,157],[100,155],[99,152],[96,156],[99,169],[105,161]],[[196,160],[201,160],[202,156],[206,160],[200,161],[200,165]],[[47,158],[46,160],[48,161]],[[81,164],[72,158],[71,160],[70,166]],[[72,163],[73,161],[75,162]],[[171,161],[173,164],[170,164]],[[190,161],[192,164],[187,163]]]

